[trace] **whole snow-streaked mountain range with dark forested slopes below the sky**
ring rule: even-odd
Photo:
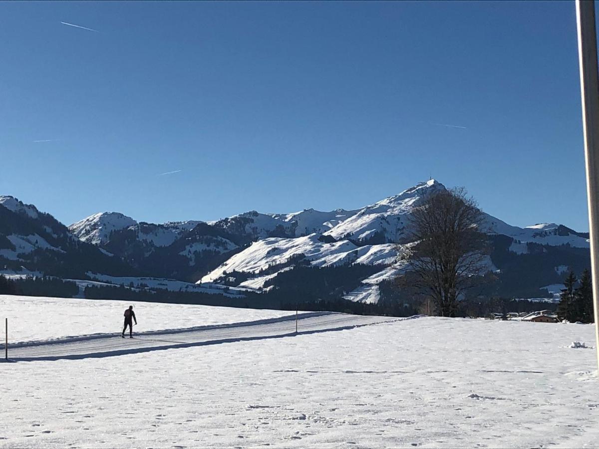
[[[116,284],[137,279],[134,286],[142,278],[168,278],[266,295],[293,289],[301,273],[310,284],[326,269],[335,281],[325,278],[314,295],[376,303],[384,299],[382,286],[409,269],[398,256],[414,243],[413,209],[443,190],[429,180],[356,210],[250,211],[215,222],[162,224],[105,212],[68,227],[34,205],[0,196],[0,272]],[[484,230],[495,279],[486,295],[550,296],[541,289],[590,265],[588,233],[553,223],[510,226],[488,214]]]

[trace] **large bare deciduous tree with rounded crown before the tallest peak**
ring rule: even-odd
[[[412,213],[414,287],[443,317],[455,317],[459,295],[486,271],[484,218],[463,188],[432,195]]]

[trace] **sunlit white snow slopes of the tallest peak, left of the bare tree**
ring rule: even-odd
[[[337,241],[323,239],[317,233],[298,238],[263,238],[232,256],[204,279],[216,281],[227,273],[238,271],[253,275],[250,280],[243,281],[244,286],[261,287],[266,280],[274,277],[271,272],[265,273],[267,269],[273,271],[277,266],[290,263],[294,257],[305,257],[314,266],[347,263],[381,265],[378,274],[362,281],[358,289],[344,296],[351,301],[376,303],[380,298],[377,284],[397,276],[407,268],[405,262],[397,261],[398,247],[394,242],[406,242],[402,245],[405,248],[412,245],[409,239],[413,209],[429,195],[444,190],[442,184],[430,180],[362,210],[350,211],[343,221],[335,223],[323,233]],[[316,211],[304,211],[304,217],[317,217],[312,223],[319,223],[324,218],[319,214]],[[291,219],[291,216],[294,214],[289,214],[286,219]],[[367,244],[369,240],[378,244]],[[497,269],[490,259],[486,264],[492,271]]]

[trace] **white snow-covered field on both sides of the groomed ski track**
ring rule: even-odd
[[[38,320],[34,301],[3,297],[0,314]],[[45,319],[66,326],[76,313],[111,316],[103,307],[122,314],[125,303],[112,303],[72,301],[74,312],[46,306]],[[136,310],[169,307],[193,314],[192,306]],[[279,314],[214,310],[213,319],[229,322]],[[164,315],[165,327],[181,327]],[[0,447],[597,447],[595,352],[570,348],[594,346],[593,332],[581,324],[417,318],[2,363]]]

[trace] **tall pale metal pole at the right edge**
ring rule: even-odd
[[[582,129],[585,138],[586,196],[591,237],[591,272],[595,309],[595,348],[599,368],[599,76],[595,2],[576,0]]]

